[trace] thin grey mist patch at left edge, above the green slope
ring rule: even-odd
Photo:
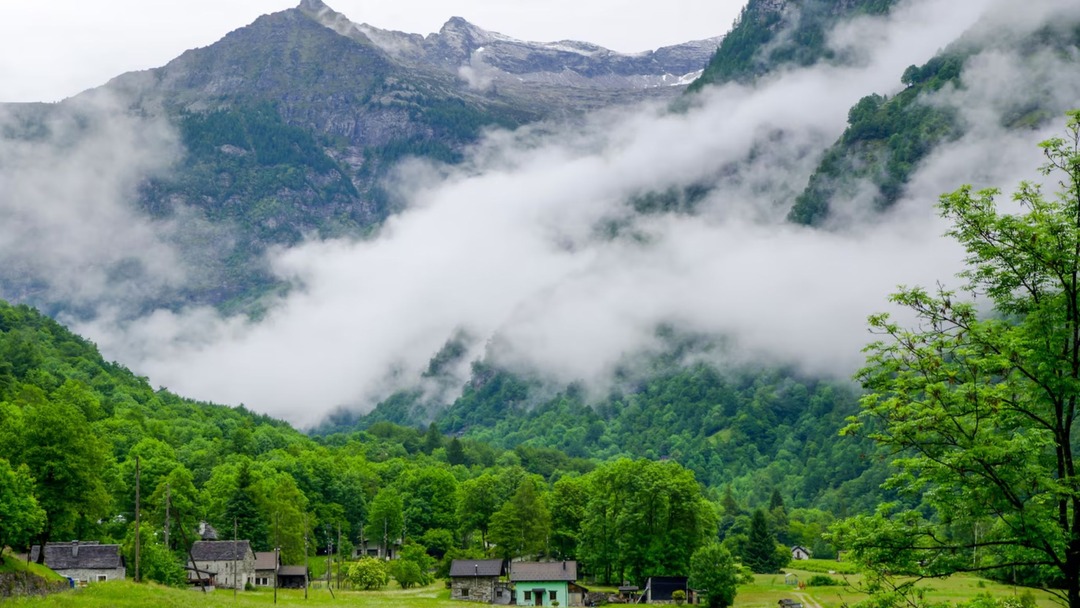
[[[122,108],[96,94],[0,110],[0,276],[14,291],[5,298],[79,310],[185,281],[172,225],[130,204],[139,181],[176,158],[175,135]]]

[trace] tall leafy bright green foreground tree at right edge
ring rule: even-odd
[[[977,303],[943,286],[901,288],[891,300],[914,328],[869,319],[882,339],[866,348],[858,378],[869,392],[846,432],[901,450],[888,484],[924,510],[886,504],[834,538],[880,577],[1015,568],[1080,608],[1080,111],[1040,147],[1056,195],[1023,183],[1010,211],[996,189],[941,198]]]

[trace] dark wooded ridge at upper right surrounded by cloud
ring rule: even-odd
[[[1048,78],[1070,80],[1068,71],[1049,72],[1048,60],[1068,62],[1078,54],[1080,22],[1075,15],[1017,37],[1003,35],[999,16],[991,14],[924,65],[908,67],[900,78],[901,92],[872,94],[851,108],[847,129],[795,199],[789,219],[822,225],[834,218],[837,206],[872,213],[892,207],[922,161],[974,129],[963,116],[966,108],[949,97],[978,91],[984,84],[978,70],[995,57],[1017,57],[1022,79],[1012,83],[1014,94],[1000,99],[976,93],[989,103],[986,109],[998,117],[998,126],[1024,132],[1056,120],[1076,99],[1045,84]]]

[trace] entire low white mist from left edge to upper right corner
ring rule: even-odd
[[[838,54],[861,59],[851,66],[714,87],[681,113],[642,106],[492,132],[456,167],[405,162],[387,185],[404,210],[372,238],[310,240],[268,256],[293,289],[257,321],[149,305],[198,275],[198,260],[171,245],[179,231],[205,230],[208,243],[228,234],[199,217],[136,212],[133,185],[170,170],[176,134],[126,114],[122,100],[91,97],[98,107],[85,111],[99,120],[90,129],[60,112],[51,139],[0,147],[0,268],[42,278],[28,293],[69,302],[80,314],[62,321],[154,387],[301,427],[417,386],[458,335],[468,356],[451,370],[456,381],[428,387],[442,400],[475,360],[602,394],[629,357],[663,348],[659,325],[728,344],[696,353],[721,365],[848,379],[873,339],[867,315],[889,310],[897,285],[958,285],[963,252],[942,238],[937,198],[963,184],[1010,192],[1044,179],[1037,144],[1063,121],[1002,124],[1036,103],[1061,116],[1080,98],[1080,71],[1053,53],[980,53],[962,87],[923,102],[954,109],[964,135],[924,160],[892,212],[870,213],[864,185],[833,201],[837,217],[824,229],[784,215],[854,103],[895,94],[907,66],[988,14],[1023,36],[1063,15],[1080,19],[1080,4],[915,0],[831,32]],[[715,187],[696,215],[643,216],[626,204],[702,181]],[[611,225],[626,237],[607,238]],[[126,280],[133,268],[143,273]],[[133,307],[149,309],[118,312]]]

